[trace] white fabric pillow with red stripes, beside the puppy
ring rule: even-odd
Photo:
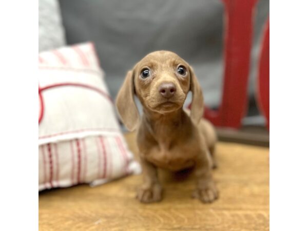
[[[39,55],[39,190],[140,172],[92,43]]]

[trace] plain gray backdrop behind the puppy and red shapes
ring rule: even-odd
[[[220,0],[59,2],[67,43],[94,42],[113,98],[126,71],[144,55],[155,50],[171,50],[194,67],[206,104],[214,108],[219,105],[224,11]],[[257,5],[249,76],[251,99],[254,97],[257,57],[268,5],[268,0],[260,0]]]

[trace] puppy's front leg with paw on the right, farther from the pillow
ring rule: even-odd
[[[211,160],[208,154],[200,155],[196,161],[197,188],[192,193],[192,197],[198,198],[203,203],[211,203],[218,198],[218,190],[211,175]]]

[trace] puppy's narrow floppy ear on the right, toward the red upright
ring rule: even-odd
[[[198,124],[203,116],[204,104],[200,84],[197,80],[194,70],[189,66],[190,73],[190,91],[192,92],[192,101],[190,108],[190,118],[192,122]]]

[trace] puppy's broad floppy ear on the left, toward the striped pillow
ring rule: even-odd
[[[117,95],[115,105],[128,130],[133,131],[139,124],[139,112],[134,102],[133,71],[128,71],[124,83]]]

